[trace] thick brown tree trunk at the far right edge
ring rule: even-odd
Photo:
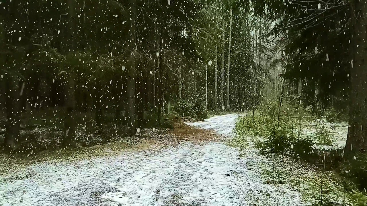
[[[367,1],[352,1],[349,128],[345,158],[367,150]]]

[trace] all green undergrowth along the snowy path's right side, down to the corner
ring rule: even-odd
[[[308,205],[367,205],[366,194],[353,181],[367,180],[367,158],[358,157],[341,166],[341,173],[327,170],[330,151],[320,146],[331,145],[332,138],[321,121],[310,124],[300,116],[286,115],[278,121],[275,116],[258,112],[253,120],[251,116],[240,118],[235,130],[236,136],[229,145],[238,147],[244,158],[251,147],[257,148],[261,159],[249,161],[248,166],[258,170],[266,183],[295,188]]]

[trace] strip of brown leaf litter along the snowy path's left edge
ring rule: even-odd
[[[132,137],[117,138],[107,144],[68,150],[43,151],[36,155],[15,156],[0,154],[0,175],[18,170],[37,162],[75,162],[83,159],[117,155],[121,152],[153,150],[158,152],[167,147],[190,142],[205,144],[218,141],[220,135],[212,130],[204,130],[186,125],[181,120],[174,123],[174,129],[142,129]]]

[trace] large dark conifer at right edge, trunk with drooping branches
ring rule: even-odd
[[[284,4],[276,1],[255,5],[256,13],[265,15],[265,7],[272,19],[277,19],[272,35],[281,39],[278,45],[291,54],[292,63],[288,64],[283,77],[294,83],[306,78],[317,85],[317,88],[308,88],[313,93],[318,91],[317,99],[323,107],[330,105],[329,99],[336,97],[339,91],[349,91],[349,129],[344,155],[350,159],[358,151],[365,152],[367,135],[363,127],[367,117],[362,111],[367,106],[364,101],[367,74],[361,68],[366,58],[363,50],[366,2],[328,0]],[[302,88],[303,92],[312,93],[305,89],[307,87]]]

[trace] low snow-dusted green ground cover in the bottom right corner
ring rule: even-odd
[[[284,155],[266,155],[252,167],[259,169],[268,184],[288,185],[300,192],[310,205],[364,206],[366,194],[332,171],[320,171]],[[349,191],[345,190],[349,185]]]

